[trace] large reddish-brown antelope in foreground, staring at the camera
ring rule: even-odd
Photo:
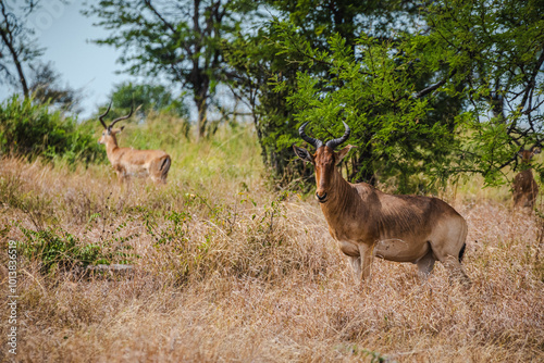
[[[300,137],[316,148],[316,153],[293,146],[295,153],[316,168],[316,197],[321,205],[329,233],[349,256],[358,280],[370,275],[372,258],[411,262],[426,277],[436,260],[467,286],[470,279],[461,267],[467,237],[467,222],[446,202],[431,197],[393,196],[367,183],[344,179],[336,165],[354,146],[339,151],[350,129],[346,123],[341,138],[323,142],[305,134]]]

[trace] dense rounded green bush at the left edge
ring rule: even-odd
[[[12,97],[0,104],[0,151],[26,158],[62,159],[70,164],[101,161],[94,132],[76,120],[30,99]]]

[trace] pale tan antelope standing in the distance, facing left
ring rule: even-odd
[[[166,183],[166,176],[170,170],[171,159],[168,153],[161,150],[135,150],[133,148],[120,148],[115,135],[124,128],[113,128],[118,122],[132,116],[133,110],[126,116],[112,121],[107,126],[103,117],[110,112],[111,103],[104,114],[99,116],[104,130],[98,140],[98,143],[106,145],[106,153],[113,170],[118,174],[119,182],[132,175],[149,176],[156,183]]]

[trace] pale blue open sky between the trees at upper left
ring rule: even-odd
[[[126,74],[115,74],[115,71],[122,70],[122,65],[116,64],[120,51],[90,42],[108,33],[92,26],[94,20],[81,14],[81,1],[71,0],[63,4],[59,0],[45,0],[42,4],[29,17],[29,25],[37,32],[38,43],[46,47],[41,61],[53,63],[54,70],[62,76],[62,84],[83,89],[82,116],[89,116],[98,104],[108,101],[107,96],[115,84],[129,78]],[[28,71],[26,75],[28,77]],[[0,99],[5,99],[14,90],[2,86]]]

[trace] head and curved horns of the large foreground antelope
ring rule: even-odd
[[[298,129],[298,134],[306,142],[312,145],[316,148],[316,153],[313,154],[311,154],[304,148],[293,146],[293,149],[295,149],[295,153],[298,158],[302,159],[305,162],[312,163],[316,167],[316,197],[318,198],[318,201],[320,203],[326,202],[327,197],[331,195],[332,188],[334,188],[336,165],[338,165],[338,163],[342,161],[342,159],[344,159],[344,157],[351,148],[355,148],[354,146],[348,145],[339,151],[334,151],[337,146],[345,142],[349,137],[349,126],[345,122],[343,123],[346,129],[344,135],[341,138],[332,139],[326,142],[306,135],[305,127],[306,125],[308,125],[308,123],[305,123],[302,126],[300,126],[300,128]]]

